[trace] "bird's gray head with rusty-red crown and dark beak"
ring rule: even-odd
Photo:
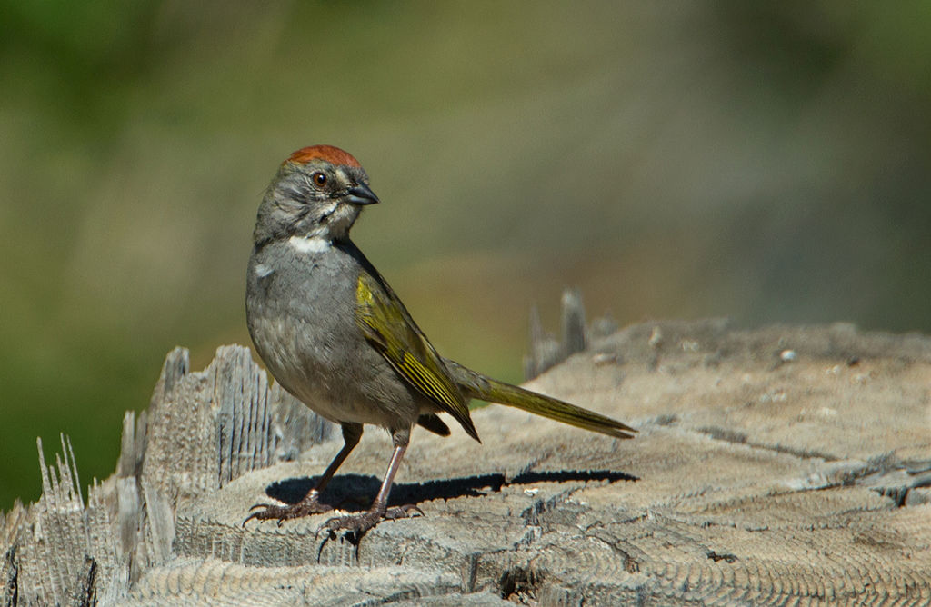
[[[280,238],[342,240],[365,205],[378,202],[358,160],[331,145],[305,147],[285,160],[265,191],[255,244]]]

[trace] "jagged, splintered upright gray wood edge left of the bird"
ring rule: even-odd
[[[129,587],[173,560],[180,505],[239,475],[295,457],[331,425],[277,388],[248,349],[223,346],[192,373],[186,350],[169,353],[148,411],[124,417],[115,474],[77,491],[62,438],[55,466],[39,443],[43,495],[0,518],[7,580],[0,604],[79,605],[127,600]]]

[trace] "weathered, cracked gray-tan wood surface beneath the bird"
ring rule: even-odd
[[[245,348],[201,372],[176,350],[87,504],[62,441],[41,500],[0,515],[0,604],[931,601],[931,340],[712,320],[587,346],[530,386],[637,438],[496,406],[481,445],[416,429],[392,498],[425,517],[358,544],[317,538],[324,516],[241,527],[339,433]],[[370,429],[324,498],[368,506],[389,454]]]

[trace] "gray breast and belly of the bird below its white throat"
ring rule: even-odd
[[[250,335],[277,382],[324,417],[406,425],[416,420],[415,398],[356,324],[361,271],[355,256],[326,243],[292,238],[253,251]]]

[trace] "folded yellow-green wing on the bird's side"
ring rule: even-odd
[[[452,414],[470,437],[479,440],[466,398],[453,384],[439,354],[394,291],[368,272],[358,277],[356,323],[405,381]]]

